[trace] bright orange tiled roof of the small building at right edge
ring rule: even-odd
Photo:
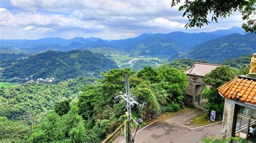
[[[235,101],[256,104],[256,79],[246,76],[235,77],[218,88],[219,94]]]

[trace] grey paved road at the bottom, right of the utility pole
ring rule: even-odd
[[[180,124],[175,125],[168,120],[157,121],[147,126],[136,134],[135,142],[202,142],[204,138],[212,135],[217,135],[220,138],[222,123],[190,130],[188,127],[183,127]],[[114,142],[122,142],[123,140],[124,137],[122,136]]]

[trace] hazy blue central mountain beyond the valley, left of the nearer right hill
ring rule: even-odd
[[[220,35],[172,32],[167,34],[142,34],[136,38],[113,40],[111,43],[114,48],[137,55],[173,55],[218,37]]]

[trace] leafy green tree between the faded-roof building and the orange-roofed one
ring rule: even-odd
[[[223,115],[224,98],[219,95],[217,88],[231,81],[234,77],[235,71],[228,66],[215,68],[204,77],[204,83],[211,85],[210,89],[204,89],[202,92],[202,95],[207,98],[207,103],[204,105],[205,109],[214,110],[218,115]]]

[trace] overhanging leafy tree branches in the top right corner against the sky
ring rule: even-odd
[[[171,6],[181,3],[180,0],[172,0]],[[242,13],[242,20],[247,20],[242,24],[242,28],[246,32],[256,33],[256,1],[255,0],[217,0],[217,1],[185,1],[179,7],[179,11],[185,11],[183,17],[188,18],[188,23],[185,27],[201,27],[210,22],[207,17],[209,13],[213,13],[212,21],[218,23],[219,18],[226,18],[232,15],[232,12],[239,10]]]

